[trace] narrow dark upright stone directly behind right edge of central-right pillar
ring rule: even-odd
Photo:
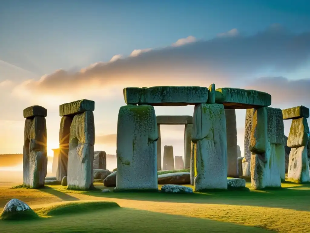
[[[227,175],[238,177],[238,147],[236,110],[225,109],[227,134]]]

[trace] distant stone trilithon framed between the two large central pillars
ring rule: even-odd
[[[184,165],[182,168],[190,168],[191,158],[191,135],[193,130],[192,116],[156,116],[157,122],[157,171],[162,170],[162,143],[160,125],[185,125],[184,127]],[[163,165],[164,166],[164,165]],[[163,170],[166,170],[163,168]],[[168,169],[171,170],[171,169]]]

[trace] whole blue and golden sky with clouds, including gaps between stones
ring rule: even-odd
[[[59,105],[95,101],[95,150],[116,153],[122,89],[235,87],[272,95],[271,107],[310,107],[308,1],[3,1],[0,7],[0,154],[22,153],[23,109],[47,108],[48,154]],[[193,106],[155,107],[193,115]],[[236,110],[244,151],[245,110]],[[291,121],[285,121],[288,135]],[[184,126],[162,126],[183,155]]]

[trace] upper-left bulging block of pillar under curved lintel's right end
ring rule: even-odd
[[[263,154],[268,142],[267,137],[267,110],[265,107],[254,109],[253,123],[250,138],[250,151]]]

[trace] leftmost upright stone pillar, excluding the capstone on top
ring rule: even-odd
[[[45,117],[25,120],[23,149],[24,186],[44,187],[47,175],[47,131]]]

